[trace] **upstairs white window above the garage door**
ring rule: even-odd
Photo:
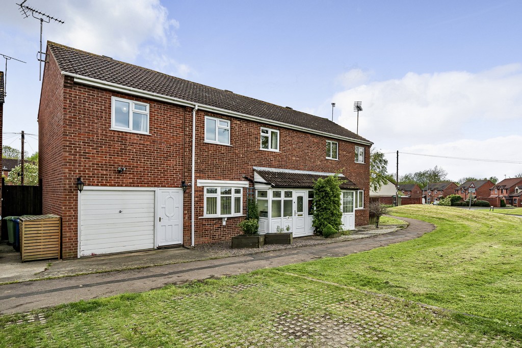
[[[149,134],[149,104],[112,97],[111,129]]]

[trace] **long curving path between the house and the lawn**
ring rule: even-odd
[[[430,223],[407,218],[400,219],[407,221],[409,226],[396,232],[346,242],[214,260],[197,260],[144,269],[0,285],[0,314],[23,313],[81,299],[107,297],[125,292],[144,292],[168,284],[182,284],[191,280],[241,274],[256,269],[278,267],[317,258],[341,257],[408,241],[435,229],[435,226]]]

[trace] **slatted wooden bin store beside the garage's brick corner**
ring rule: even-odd
[[[20,217],[20,252],[23,261],[59,259],[61,218],[54,214]]]

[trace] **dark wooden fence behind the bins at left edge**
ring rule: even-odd
[[[9,216],[40,215],[42,213],[42,186],[5,185],[2,178],[2,219]],[[2,241],[7,239],[5,221],[2,221]]]

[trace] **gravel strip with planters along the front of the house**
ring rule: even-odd
[[[223,241],[218,243],[208,243],[208,244],[200,244],[194,247],[196,250],[205,251],[209,254],[214,254],[218,257],[224,256],[237,256],[237,255],[245,255],[245,254],[256,254],[256,253],[264,253],[265,251],[273,251],[273,250],[281,250],[281,249],[290,249],[290,248],[299,248],[302,246],[309,245],[318,245],[318,244],[330,244],[330,243],[338,243],[344,241],[351,241],[353,239],[366,238],[374,235],[385,234],[390,232],[395,232],[404,228],[405,225],[399,226],[380,226],[378,228],[375,225],[366,225],[366,226],[358,226],[354,231],[351,231],[350,235],[340,236],[338,238],[325,238],[323,236],[306,236],[306,237],[297,237],[293,238],[293,242],[290,245],[284,244],[271,244],[265,245],[260,248],[241,248],[241,249],[232,249],[230,241]]]

